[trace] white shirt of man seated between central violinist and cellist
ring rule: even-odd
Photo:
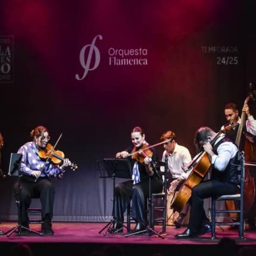
[[[164,162],[166,158],[166,150],[163,152],[162,161]],[[168,160],[168,171],[170,171],[171,176],[174,179],[186,179],[189,176],[190,171],[185,173],[183,168],[185,164],[191,162],[191,154],[189,153],[188,148],[185,146],[180,146],[176,142],[173,154],[169,154],[167,157]]]

